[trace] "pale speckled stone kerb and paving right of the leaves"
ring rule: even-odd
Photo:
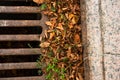
[[[85,80],[120,80],[120,0],[81,0],[81,14]]]

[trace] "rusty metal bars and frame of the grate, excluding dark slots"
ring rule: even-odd
[[[29,2],[31,0],[4,0],[7,1],[25,1]],[[41,34],[0,34],[0,42],[2,41],[40,41],[40,37],[44,36],[45,30],[48,29],[45,21],[48,21],[48,18],[41,13],[39,7],[37,6],[0,6],[0,14],[5,13],[15,13],[15,14],[24,14],[24,13],[36,13],[41,15],[40,20],[0,20],[0,28],[3,27],[10,28],[12,27],[34,27],[41,26]],[[40,55],[40,48],[10,48],[10,49],[0,49],[0,56],[13,56],[13,55]],[[19,63],[0,63],[1,70],[15,70],[15,69],[37,69],[36,61],[35,62],[19,62]],[[0,80],[45,80],[43,76],[22,76],[22,77],[7,77],[0,78]]]

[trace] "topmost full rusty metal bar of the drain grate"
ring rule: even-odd
[[[40,9],[32,6],[0,6],[0,13],[40,13]]]

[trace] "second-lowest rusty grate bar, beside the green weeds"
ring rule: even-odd
[[[37,69],[36,62],[0,63],[0,70]]]

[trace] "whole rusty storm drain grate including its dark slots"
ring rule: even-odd
[[[46,20],[31,0],[0,0],[0,80],[43,80],[36,60]]]

